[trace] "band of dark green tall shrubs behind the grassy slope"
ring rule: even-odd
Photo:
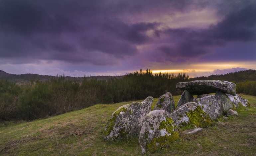
[[[176,89],[176,84],[188,80],[185,73],[152,74],[148,69],[108,80],[84,77],[82,82],[65,80],[64,75],[46,82],[31,80],[30,84],[21,86],[0,80],[0,120],[33,120],[95,104],[156,98],[166,92],[177,95],[181,91]]]

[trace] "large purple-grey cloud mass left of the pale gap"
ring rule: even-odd
[[[143,10],[141,3],[134,3],[2,0],[0,40],[4,42],[0,43],[0,56],[98,64],[90,60],[89,52],[110,54],[112,59],[134,55],[138,52],[135,45],[151,41],[146,32],[159,25],[143,22],[130,24],[118,17],[123,12],[138,12],[141,7]],[[69,39],[70,34],[72,37]],[[63,36],[67,37],[64,39]],[[78,47],[82,52],[76,53]],[[102,59],[99,61],[104,62]]]

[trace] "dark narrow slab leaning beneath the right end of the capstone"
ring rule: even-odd
[[[222,107],[221,110],[227,111],[230,108],[234,108],[232,101],[228,98],[228,96],[225,93],[217,91],[215,96],[218,100],[219,105]]]

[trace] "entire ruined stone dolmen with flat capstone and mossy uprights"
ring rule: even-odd
[[[232,82],[196,80],[177,83],[176,88],[183,90],[176,108],[169,92],[159,97],[153,111],[152,97],[119,107],[108,120],[103,138],[111,141],[139,137],[141,154],[153,153],[177,140],[182,129],[206,128],[227,112],[237,116],[232,109],[250,106],[248,100],[236,94]]]

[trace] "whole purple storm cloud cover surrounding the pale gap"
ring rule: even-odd
[[[209,55],[212,46],[254,40],[255,3],[249,0],[217,4],[210,0],[1,0],[0,57],[113,65],[118,64],[116,59],[125,60],[141,52],[138,45],[152,43],[151,49],[156,53],[149,57],[160,51],[171,61],[200,58]],[[165,21],[134,20],[177,12],[188,14],[206,7],[217,8],[218,14],[224,16],[208,29],[189,26],[160,29]]]

